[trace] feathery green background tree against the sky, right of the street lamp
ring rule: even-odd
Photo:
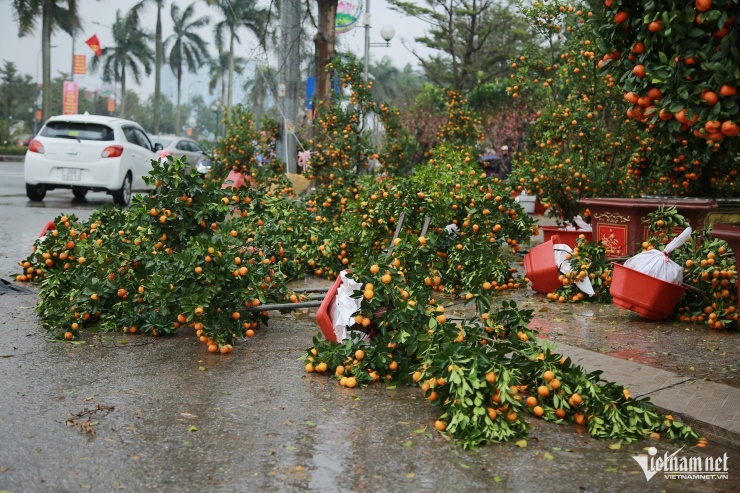
[[[530,30],[511,0],[425,0],[425,5],[388,0],[393,10],[429,24],[415,38],[438,54],[422,57],[429,80],[463,94],[477,84],[508,74],[509,60]]]

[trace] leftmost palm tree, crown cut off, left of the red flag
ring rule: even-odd
[[[61,28],[70,35],[74,35],[79,29],[77,0],[13,0],[12,3],[20,36],[31,33],[36,27],[36,22],[41,18],[43,74],[41,110],[44,118],[49,118],[51,116],[51,34]],[[66,4],[66,8],[62,4]]]

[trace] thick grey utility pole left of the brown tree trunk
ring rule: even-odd
[[[278,155],[285,162],[289,173],[297,172],[296,156],[298,150],[293,133],[297,125],[296,120],[298,119],[298,105],[302,86],[300,11],[300,0],[283,0],[281,3],[278,101],[282,110],[283,132],[281,142],[278,143]]]

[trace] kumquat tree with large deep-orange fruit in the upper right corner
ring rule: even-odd
[[[646,138],[630,173],[645,193],[740,196],[737,0],[606,0],[592,27]]]

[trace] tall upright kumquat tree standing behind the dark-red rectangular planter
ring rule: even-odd
[[[522,14],[540,39],[512,63],[508,92],[537,112],[526,150],[515,155],[512,187],[540,197],[564,222],[583,214],[582,198],[637,195],[626,170],[642,128],[624,121],[615,79],[599,72],[587,4],[534,2]]]

